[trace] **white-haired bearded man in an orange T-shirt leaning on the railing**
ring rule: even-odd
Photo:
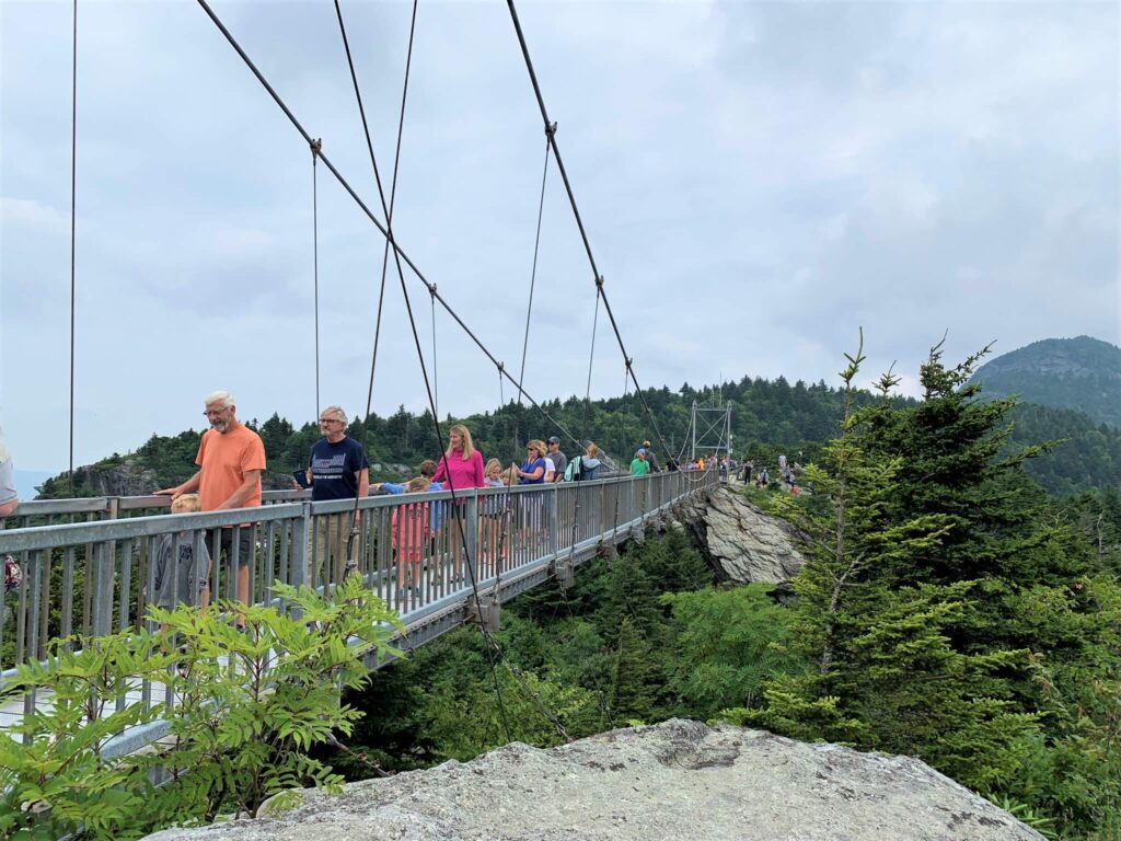
[[[198,472],[183,484],[156,491],[176,499],[198,492],[202,511],[224,511],[231,508],[257,508],[261,505],[261,473],[265,472],[265,444],[261,437],[237,417],[233,395],[213,391],[203,398],[211,428],[198,442],[195,464]],[[234,533],[238,545],[234,551]],[[214,529],[207,536],[210,555],[215,561],[224,552],[230,562],[238,560],[238,600],[249,603],[249,565],[253,556],[253,526]],[[215,593],[216,595],[216,593]]]

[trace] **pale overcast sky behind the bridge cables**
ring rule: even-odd
[[[82,0],[76,461],[202,424],[314,418],[312,163],[194,2]],[[331,2],[215,11],[371,207]],[[411,4],[344,0],[388,178]],[[1048,336],[1121,342],[1113,2],[522,2],[600,270],[643,386],[914,388]],[[16,464],[67,462],[71,7],[0,1],[0,413]],[[545,140],[502,2],[420,0],[395,229],[479,336],[520,359]],[[319,168],[321,394],[365,401],[382,241]],[[374,409],[424,391],[396,278]],[[409,278],[430,353],[428,296]],[[594,284],[549,169],[527,387],[583,394]],[[498,376],[436,315],[441,413]],[[600,320],[592,391],[623,366]],[[510,389],[506,389],[510,397]]]

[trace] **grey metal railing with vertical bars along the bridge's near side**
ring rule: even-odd
[[[359,501],[354,554],[363,580],[402,617],[501,580],[547,556],[560,556],[617,532],[691,492],[719,482],[657,473],[642,479],[370,497]],[[235,598],[237,567],[249,565],[249,602],[272,598],[274,581],[331,585],[344,573],[353,500],[300,501],[272,492],[260,508],[206,514],[151,514],[161,497],[29,502],[19,516],[43,525],[0,530],[0,556],[11,554],[22,581],[4,597],[0,616],[0,676],[19,663],[41,659],[49,640],[103,635],[145,626],[155,595],[155,558],[167,536],[184,533],[194,546],[222,533],[244,533],[249,557],[212,558],[211,598]],[[297,501],[286,501],[296,498]],[[340,552],[326,563],[332,543]],[[466,545],[466,553],[463,545]]]

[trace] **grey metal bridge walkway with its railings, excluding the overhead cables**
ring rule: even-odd
[[[666,472],[552,486],[476,489],[421,495],[425,506],[443,507],[442,528],[425,540],[418,558],[407,561],[392,545],[395,512],[420,505],[417,495],[377,496],[359,501],[358,572],[379,598],[398,611],[406,632],[393,645],[410,650],[448,630],[478,622],[487,634],[498,627],[503,601],[548,580],[571,586],[575,569],[645,528],[688,496],[719,483],[715,470],[701,475]],[[18,558],[24,573],[8,614],[0,621],[0,680],[20,663],[41,660],[49,641],[71,635],[155,630],[148,620],[155,589],[155,557],[166,535],[188,534],[196,545],[222,528],[252,530],[250,601],[286,606],[272,599],[274,581],[321,590],[335,573],[322,564],[309,535],[317,521],[331,527],[349,519],[349,500],[311,502],[306,492],[268,492],[266,505],[222,512],[165,515],[166,497],[44,500],[20,506],[0,530],[0,555]],[[460,509],[457,511],[456,509]],[[343,516],[340,516],[343,515]],[[244,521],[252,519],[249,526]],[[39,523],[41,525],[26,525]],[[454,533],[462,533],[457,555]],[[237,544],[237,540],[234,542]],[[233,557],[213,563],[211,592],[234,598]],[[458,574],[457,574],[458,573]],[[371,668],[383,663],[370,662]],[[117,704],[163,703],[177,699],[164,684],[143,681]],[[0,728],[10,728],[38,704],[36,692],[0,708]],[[109,755],[129,752],[159,738],[163,722],[145,726],[106,746]]]

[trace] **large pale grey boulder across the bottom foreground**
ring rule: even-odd
[[[271,817],[149,841],[1040,841],[907,757],[693,721],[615,730],[466,765],[306,791]]]

